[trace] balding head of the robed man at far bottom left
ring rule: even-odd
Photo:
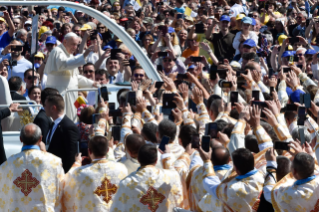
[[[42,140],[40,127],[33,123],[25,125],[21,129],[20,140],[24,145],[37,145]]]

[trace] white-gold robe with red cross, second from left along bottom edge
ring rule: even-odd
[[[72,169],[63,182],[63,212],[110,211],[126,167],[107,159]]]

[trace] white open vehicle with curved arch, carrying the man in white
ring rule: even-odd
[[[91,17],[94,17],[97,20],[99,20],[103,25],[107,26],[117,37],[119,37],[123,41],[123,43],[131,50],[132,54],[139,61],[139,63],[145,70],[145,73],[150,79],[162,81],[159,74],[155,71],[155,68],[153,67],[149,58],[143,53],[139,45],[121,27],[119,27],[115,22],[113,22],[110,18],[108,18],[106,15],[104,15],[100,11],[97,11],[95,9],[92,9],[82,4],[76,4],[73,2],[67,2],[67,1],[52,1],[52,0],[51,1],[2,0],[0,1],[0,5],[4,5],[4,6],[57,5],[57,6],[70,7],[76,10],[81,10],[84,13],[90,15]],[[1,87],[4,88],[8,86],[8,83],[5,83],[3,79],[4,79],[3,77],[0,77],[0,88]],[[107,87],[109,91],[110,102],[115,102],[116,104],[118,104],[117,97],[116,97],[117,92],[123,88],[130,89],[130,86],[116,85],[116,84],[107,85]],[[7,92],[5,90],[7,90]],[[79,89],[79,90],[83,90],[83,89]],[[91,89],[88,89],[88,90],[91,90]],[[2,92],[0,93],[0,109],[9,106],[12,103],[11,98],[8,98],[10,97],[9,88],[7,87],[7,89],[1,89],[1,91]],[[38,105],[32,105],[32,106],[38,106]],[[26,107],[30,107],[30,105]],[[17,113],[13,113],[11,114],[10,117],[4,119],[1,122],[1,125],[3,128],[4,149],[6,152],[6,156],[8,158],[11,155],[21,151],[22,143],[20,142],[20,131],[19,131],[21,129],[20,117]]]

